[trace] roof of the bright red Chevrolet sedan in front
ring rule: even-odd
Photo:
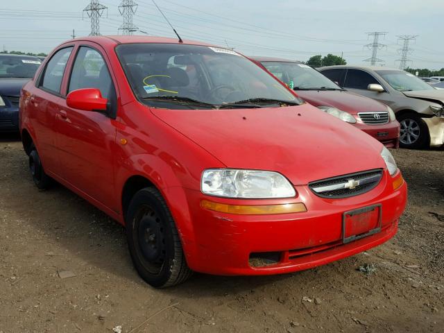
[[[78,38],[75,38],[74,40],[69,40],[65,43],[77,42],[77,41],[90,41],[90,42],[96,42],[99,44],[109,44],[110,42],[114,42],[114,44],[164,43],[164,44],[188,44],[188,45],[215,46],[213,44],[207,44],[205,42],[197,42],[194,40],[183,40],[183,42],[180,43],[178,38],[142,36],[142,35],[87,36],[87,37],[78,37]],[[217,46],[217,47],[221,47],[221,46]],[[223,48],[223,49],[225,49],[225,48]]]

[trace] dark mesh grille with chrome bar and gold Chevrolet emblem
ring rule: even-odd
[[[321,198],[348,198],[375,188],[381,178],[382,169],[376,169],[316,180],[316,182],[309,182],[308,187]]]

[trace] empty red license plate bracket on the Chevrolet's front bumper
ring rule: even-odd
[[[368,228],[366,228],[368,226]],[[364,230],[363,230],[364,229]],[[343,244],[356,241],[382,229],[382,204],[370,205],[342,214]],[[356,230],[356,233],[353,233]]]

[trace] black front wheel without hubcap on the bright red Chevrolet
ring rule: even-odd
[[[151,286],[171,287],[191,276],[176,223],[157,189],[146,187],[131,199],[126,237],[137,273]]]

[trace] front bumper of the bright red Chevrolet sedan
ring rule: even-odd
[[[213,198],[186,189],[194,230],[194,246],[189,246],[189,239],[185,241],[187,263],[202,273],[268,275],[304,270],[373,248],[396,233],[407,201],[405,182],[393,190],[392,182],[400,175],[387,175],[384,172],[375,189],[350,198],[319,198],[308,187],[296,186],[296,199],[241,200],[244,205],[305,203],[307,212],[294,214],[236,215],[205,210],[200,207],[204,199],[228,204],[239,204],[239,200]],[[382,204],[382,231],[343,244],[343,212],[378,203]],[[279,259],[257,267],[250,262],[252,253],[278,253]]]

